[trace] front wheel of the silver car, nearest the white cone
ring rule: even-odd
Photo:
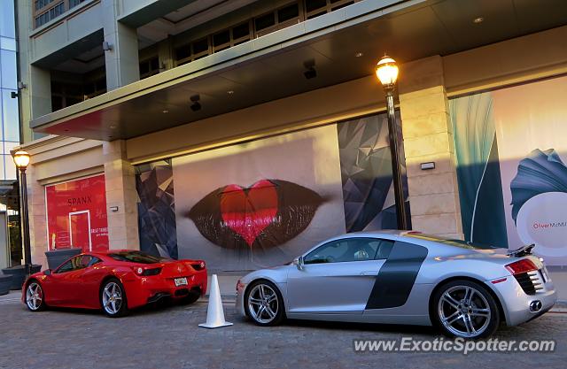
[[[259,288],[264,290],[262,296],[266,297],[261,302],[251,302],[251,296],[253,300],[261,299]],[[252,321],[258,326],[277,326],[278,324],[282,323],[283,319],[285,319],[285,306],[283,305],[282,294],[280,293],[280,290],[276,287],[276,285],[270,281],[253,281],[250,286],[246,288],[244,304],[246,316],[252,319]],[[260,312],[259,309],[261,306],[263,306],[263,310]],[[273,315],[271,313],[268,313],[268,311],[271,311]],[[262,317],[265,317],[265,319],[262,319]]]

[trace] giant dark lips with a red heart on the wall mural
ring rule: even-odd
[[[223,248],[268,250],[303,232],[322,202],[319,194],[299,184],[260,180],[248,187],[217,188],[188,216],[200,234]]]

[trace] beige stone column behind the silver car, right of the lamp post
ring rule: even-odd
[[[399,81],[412,227],[462,239],[442,59],[436,56],[402,65]],[[435,169],[422,170],[421,163],[427,162],[434,162]]]

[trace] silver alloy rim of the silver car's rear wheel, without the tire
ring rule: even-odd
[[[470,286],[454,286],[439,298],[439,321],[450,333],[465,338],[483,334],[492,311],[485,296]]]

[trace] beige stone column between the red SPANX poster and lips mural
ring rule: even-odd
[[[103,142],[103,155],[110,249],[139,250],[136,178],[134,165],[126,160],[126,142]]]

